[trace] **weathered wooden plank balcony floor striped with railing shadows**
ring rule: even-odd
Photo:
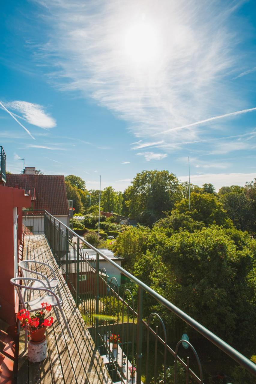
[[[28,362],[27,353],[24,352],[24,333],[21,331],[17,383],[110,384],[108,371],[53,258],[45,235],[26,235],[23,255],[24,259],[42,261],[54,268],[60,281],[63,311],[68,320],[72,338],[68,336],[62,317],[60,316],[61,324],[58,324],[52,311],[53,326],[48,329],[46,334],[47,358],[40,363],[31,363]],[[40,269],[37,270],[40,272]],[[42,270],[42,273],[45,272]]]

